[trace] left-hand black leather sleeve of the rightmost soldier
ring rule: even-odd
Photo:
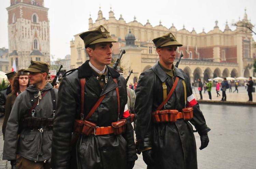
[[[136,88],[135,124],[139,150],[143,150],[145,147],[152,147],[150,131],[152,126],[151,116],[154,81],[151,77],[143,72],[140,75]]]

